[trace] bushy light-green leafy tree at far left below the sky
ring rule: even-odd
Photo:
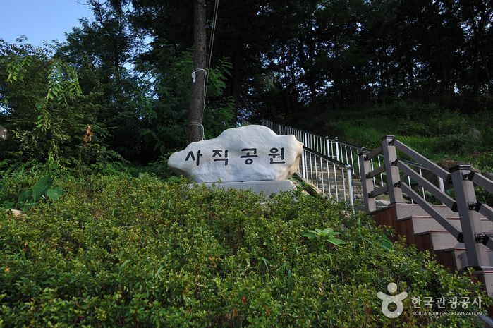
[[[53,56],[53,48],[0,42],[0,99],[13,136],[0,145],[23,162],[74,168],[90,161],[90,139],[104,131],[75,68]]]

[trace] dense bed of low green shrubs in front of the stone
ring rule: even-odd
[[[491,305],[467,275],[389,247],[389,231],[343,204],[148,174],[59,185],[56,202],[0,212],[0,327],[482,327],[413,315],[411,300]],[[303,236],[328,226],[344,243]],[[396,319],[377,298],[391,281],[409,294]]]

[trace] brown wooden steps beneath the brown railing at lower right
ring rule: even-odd
[[[452,212],[445,205],[432,205],[432,207],[461,230],[456,212]],[[393,236],[391,241],[405,236],[408,245],[416,245],[416,248],[422,252],[429,251],[436,256],[437,262],[451,272],[466,271],[468,259],[464,243],[458,242],[419,205],[395,203],[385,209],[372,212],[372,216],[375,217],[376,224],[391,226],[396,231],[396,236]],[[483,233],[493,238],[493,222],[481,217],[481,224]],[[493,251],[488,249],[487,254],[489,261],[493,263]],[[485,286],[488,296],[493,297],[493,267],[487,269],[483,267],[481,271],[474,271],[473,275]]]

